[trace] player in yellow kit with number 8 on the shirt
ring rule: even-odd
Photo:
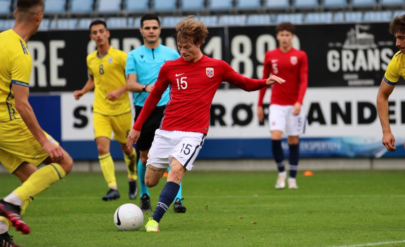
[[[114,161],[110,154],[111,133],[124,152],[129,181],[129,198],[138,195],[136,181],[135,149],[126,148],[127,135],[132,127],[131,102],[128,95],[125,66],[127,53],[110,46],[110,32],[103,20],[94,20],[90,24],[90,39],[96,42],[97,50],[87,56],[89,80],[82,90],[74,91],[74,98],[79,99],[86,92],[94,89],[93,125],[100,166],[109,190],[104,201],[120,197],[114,173]]]

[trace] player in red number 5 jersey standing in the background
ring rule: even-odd
[[[286,80],[286,85],[274,84],[271,87],[269,107],[269,128],[272,152],[278,168],[276,189],[286,187],[287,171],[284,165],[284,152],[281,147],[283,134],[288,136],[290,150],[289,189],[298,189],[296,175],[299,160],[299,135],[305,132],[307,119],[302,101],[308,87],[308,58],[304,51],[294,49],[292,40],[295,27],[283,22],[276,27],[278,48],[267,51],[264,59],[263,78],[270,74]],[[257,116],[263,121],[263,97],[267,88],[260,89]]]

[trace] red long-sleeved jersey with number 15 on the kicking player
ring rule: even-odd
[[[267,86],[266,80],[244,77],[228,63],[205,55],[196,62],[185,61],[182,57],[167,61],[160,68],[155,86],[133,129],[141,130],[142,124],[169,86],[169,101],[160,129],[207,134],[211,103],[222,82],[229,82],[245,91],[255,91]]]

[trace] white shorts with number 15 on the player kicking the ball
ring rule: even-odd
[[[206,134],[198,132],[156,129],[147,164],[168,168],[173,159],[176,159],[187,170],[191,170],[205,137]]]

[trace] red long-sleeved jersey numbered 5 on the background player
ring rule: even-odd
[[[272,85],[270,102],[280,105],[294,105],[296,102],[302,104],[308,87],[307,54],[294,48],[288,52],[276,48],[266,52],[263,65],[263,78],[268,78],[272,74],[286,80],[284,85],[278,83]],[[260,90],[259,106],[263,106],[266,89]]]

